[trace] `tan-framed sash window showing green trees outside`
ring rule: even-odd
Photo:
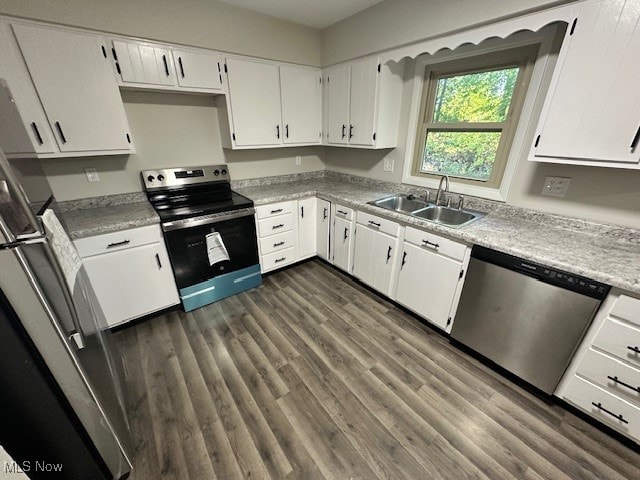
[[[413,175],[499,188],[538,46],[427,68]]]

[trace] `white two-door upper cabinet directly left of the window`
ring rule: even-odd
[[[403,74],[403,62],[382,64],[377,57],[326,69],[323,143],[396,147]]]

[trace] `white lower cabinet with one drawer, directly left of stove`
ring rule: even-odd
[[[75,243],[109,327],[180,303],[158,225]]]

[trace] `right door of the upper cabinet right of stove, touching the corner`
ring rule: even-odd
[[[322,85],[317,68],[280,67],[282,123],[285,144],[320,143]]]

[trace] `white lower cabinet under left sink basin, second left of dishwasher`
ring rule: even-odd
[[[398,258],[399,231],[397,223],[357,213],[353,276],[388,297]]]

